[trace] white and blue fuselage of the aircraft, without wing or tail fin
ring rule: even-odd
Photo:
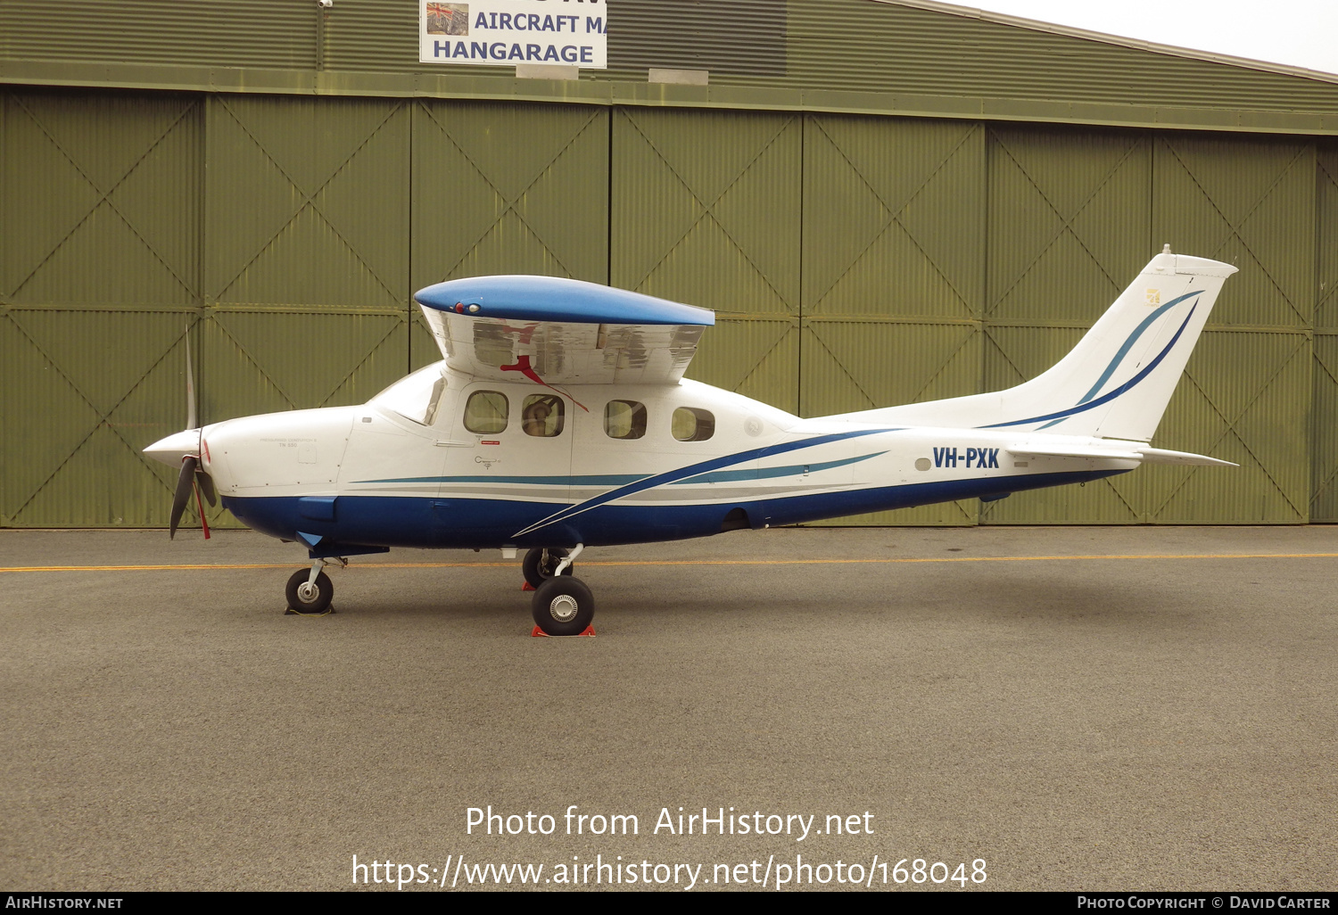
[[[999,498],[1137,466],[1014,456],[1017,433],[999,429],[803,420],[694,381],[573,385],[561,397],[450,371],[432,389],[438,373],[440,364],[360,407],[206,427],[202,466],[245,524],[330,554],[673,540]],[[561,419],[535,425],[524,415],[533,400]],[[1074,440],[1029,436],[1038,439]]]

